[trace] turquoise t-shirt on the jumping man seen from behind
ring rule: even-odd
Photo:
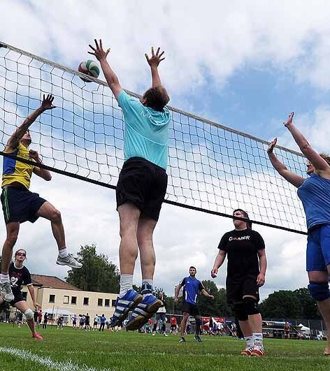
[[[145,107],[124,90],[118,96],[124,112],[124,159],[142,157],[166,170],[168,163],[168,125],[171,113]]]

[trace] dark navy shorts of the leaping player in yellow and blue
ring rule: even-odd
[[[38,217],[36,213],[46,201],[38,194],[22,187],[6,187],[1,193],[1,204],[6,224],[13,221],[31,221],[34,223]]]

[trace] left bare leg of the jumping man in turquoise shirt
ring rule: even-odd
[[[124,203],[118,208],[120,217],[120,274],[133,275],[136,258],[138,257],[138,218],[140,210],[132,203]]]

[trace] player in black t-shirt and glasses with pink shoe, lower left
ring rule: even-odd
[[[40,308],[40,305],[36,303],[36,296],[34,295],[34,288],[31,281],[31,275],[27,267],[24,267],[23,263],[27,259],[27,252],[24,249],[17,250],[15,252],[15,261],[10,264],[8,275],[10,278],[11,291],[13,292],[14,300],[10,302],[12,307],[20,310],[22,314],[27,318],[27,325],[29,326],[32,337],[34,339],[42,340],[43,337],[36,333],[34,325],[34,312],[27,306],[26,300],[23,298],[21,287],[22,284],[27,285],[27,289],[31,295],[31,299],[34,303],[34,307]],[[0,305],[3,303],[3,298],[0,296]]]

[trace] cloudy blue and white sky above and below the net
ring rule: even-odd
[[[70,68],[102,38],[122,86],[150,85],[144,53],[166,51],[160,73],[171,106],[297,150],[282,122],[292,110],[310,143],[328,151],[330,135],[329,1],[3,1],[0,40]],[[15,22],[13,22],[15,20]],[[103,79],[103,75],[100,76]],[[118,263],[119,226],[114,191],[54,174],[32,178],[37,191],[62,212],[67,245],[95,243]],[[247,210],[249,211],[249,210]],[[1,219],[3,216],[1,214]],[[229,219],[164,205],[155,231],[155,285],[173,287],[197,268],[209,279]],[[266,241],[268,270],[261,297],[306,286],[306,237],[256,226]],[[5,238],[5,228],[0,230]],[[31,272],[65,277],[48,221],[21,226],[17,247]],[[224,286],[225,266],[216,279]],[[134,281],[140,284],[136,269]]]

